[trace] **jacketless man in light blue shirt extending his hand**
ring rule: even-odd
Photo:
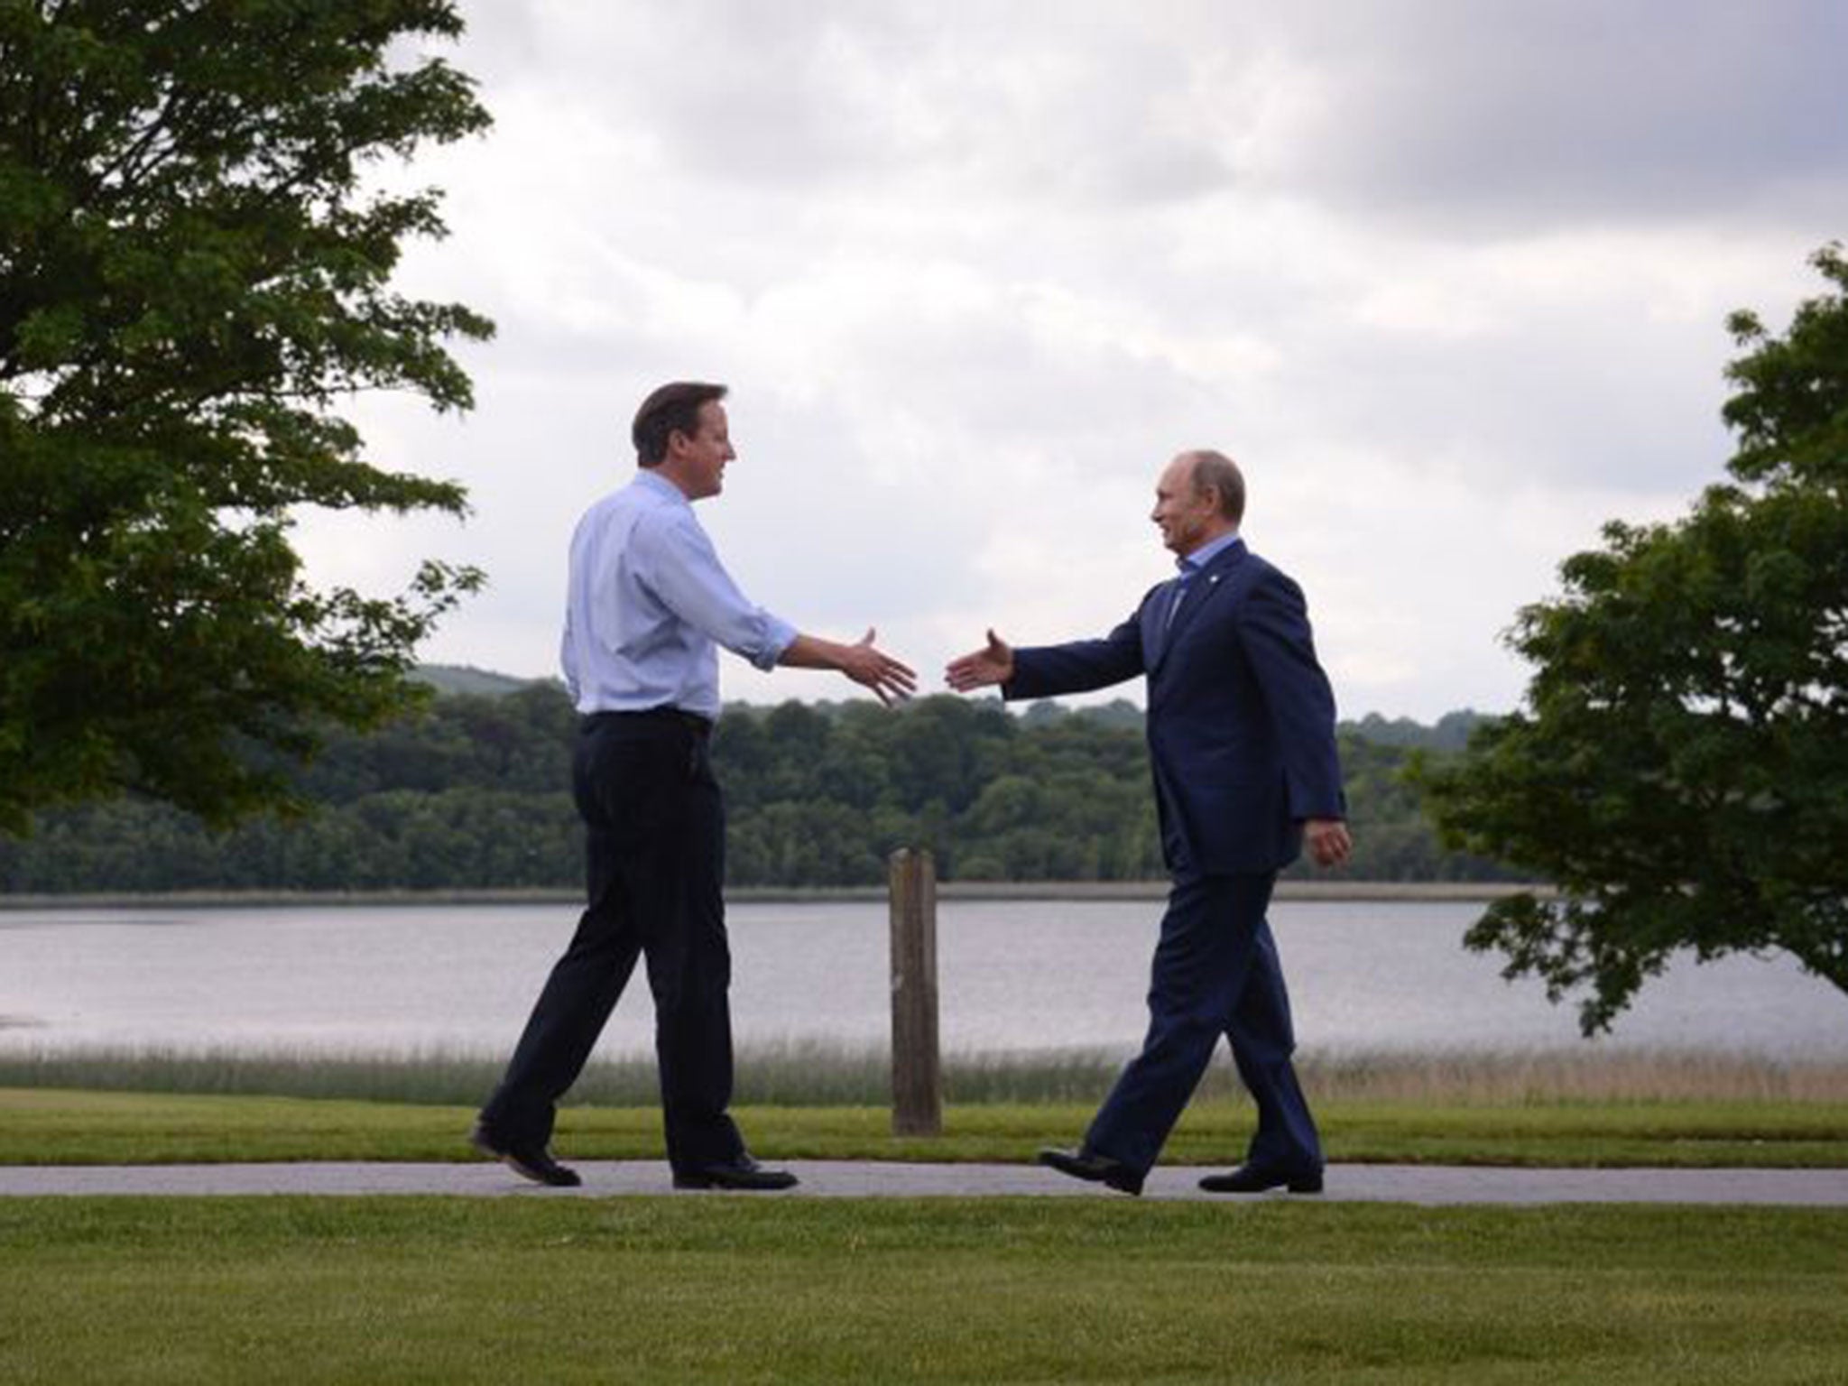
[[[675,383],[636,412],[641,471],[571,536],[562,663],[582,717],[573,796],[588,830],[590,902],[553,967],[473,1142],[543,1185],[577,1185],[549,1144],[610,1011],[647,959],[667,1162],[676,1188],[789,1188],[728,1114],[732,957],[724,931],[724,802],[706,758],[719,647],[760,669],[835,669],[880,700],[911,669],[872,645],[806,636],[737,590],[693,516],[732,449],[723,384]]]

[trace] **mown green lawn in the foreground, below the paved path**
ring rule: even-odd
[[[9,1199],[7,1382],[1842,1380],[1848,1212]]]

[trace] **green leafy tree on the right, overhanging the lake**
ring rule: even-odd
[[[1525,608],[1526,710],[1427,767],[1443,837],[1558,885],[1467,933],[1610,1029],[1691,950],[1783,950],[1848,991],[1848,261],[1772,336],[1730,329],[1730,480],[1604,529]]]

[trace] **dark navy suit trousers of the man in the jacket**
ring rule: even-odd
[[[1290,994],[1264,918],[1275,874],[1179,878],[1149,978],[1149,1031],[1085,1149],[1148,1172],[1225,1035],[1258,1109],[1247,1162],[1319,1170],[1321,1140],[1290,1055]]]

